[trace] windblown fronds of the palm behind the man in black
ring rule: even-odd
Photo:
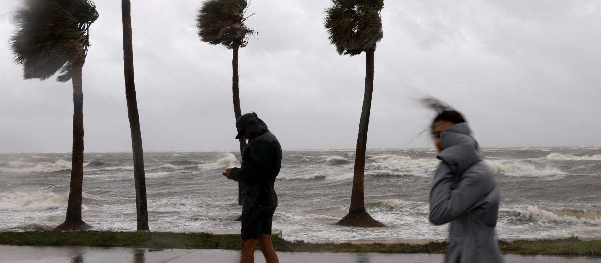
[[[207,0],[198,10],[197,27],[201,40],[210,44],[224,44],[228,49],[235,45],[245,47],[248,35],[254,30],[244,25],[246,0]]]

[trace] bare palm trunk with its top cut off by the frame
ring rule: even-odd
[[[129,0],[121,1],[123,16],[123,69],[125,75],[125,97],[127,100],[127,116],[132,133],[133,180],[136,187],[136,214],[138,215],[138,231],[148,231],[148,207],[146,205],[146,179],[144,176],[144,154],[142,151],[142,133],[136,87],[133,81],[133,47],[132,17]]]

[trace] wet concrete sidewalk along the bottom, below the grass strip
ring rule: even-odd
[[[291,253],[278,252],[282,263],[441,263],[444,255],[382,254],[382,253]],[[588,263],[601,262],[599,257],[519,256],[504,255],[507,263]],[[32,247],[0,246],[0,262],[11,263],[234,263],[240,262],[240,252],[234,250],[148,250],[100,247]],[[264,263],[261,252],[255,253],[255,262]]]

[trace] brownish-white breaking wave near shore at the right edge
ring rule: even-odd
[[[526,220],[534,222],[557,222],[557,223],[589,223],[591,225],[601,225],[601,211],[587,210],[545,210],[534,207],[528,207],[523,210],[517,210],[520,216]]]

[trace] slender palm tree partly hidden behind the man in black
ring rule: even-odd
[[[246,0],[207,0],[198,10],[197,28],[201,40],[209,44],[223,44],[227,49],[234,50],[232,59],[233,77],[232,89],[234,98],[234,114],[236,120],[242,116],[240,110],[238,50],[248,44],[248,36],[254,30],[244,25],[244,16],[248,2]],[[258,32],[257,32],[258,34]],[[246,140],[240,138],[240,154],[246,146]]]

